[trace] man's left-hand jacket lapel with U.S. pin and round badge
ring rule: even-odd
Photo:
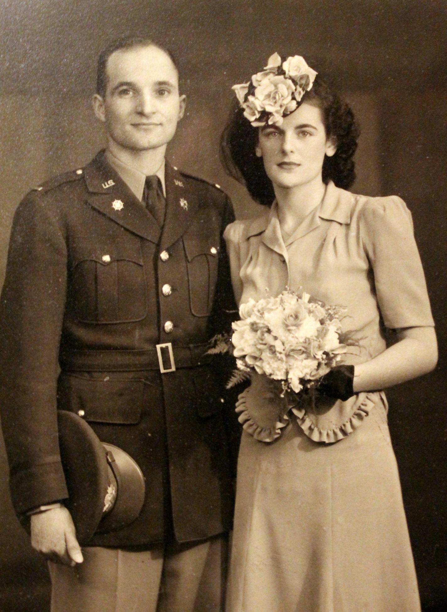
[[[85,167],[88,203],[138,236],[158,242],[160,227],[100,152]]]

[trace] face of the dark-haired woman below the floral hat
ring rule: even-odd
[[[274,186],[286,189],[321,179],[325,155],[334,155],[337,148],[326,140],[320,108],[307,102],[279,127],[261,127],[258,139],[256,154],[262,157],[267,176]]]

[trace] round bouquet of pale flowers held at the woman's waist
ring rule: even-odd
[[[227,386],[257,372],[280,381],[283,396],[312,387],[347,352],[349,334],[340,323],[344,312],[289,289],[277,297],[249,299],[239,308],[241,320],[232,324],[237,369]],[[227,351],[224,344],[220,337],[209,352]]]

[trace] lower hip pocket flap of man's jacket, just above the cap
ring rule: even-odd
[[[107,381],[61,375],[58,408],[80,414],[86,421],[136,425],[141,420],[145,381]]]

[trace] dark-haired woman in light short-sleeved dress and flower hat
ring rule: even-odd
[[[231,223],[225,239],[239,304],[302,288],[347,307],[358,345],[273,442],[264,434],[282,400],[259,375],[239,396],[227,612],[417,612],[383,389],[435,367],[434,323],[410,211],[397,196],[346,190],[358,129],[315,75],[274,54],[233,88],[223,158],[266,212]]]

